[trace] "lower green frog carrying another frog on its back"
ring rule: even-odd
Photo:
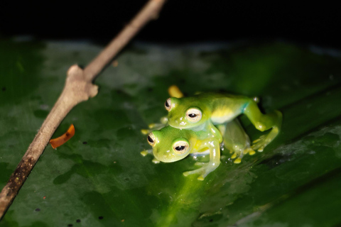
[[[141,154],[153,153],[154,163],[176,162],[183,160],[188,155],[209,154],[209,162],[195,163],[195,165],[201,166],[199,169],[183,172],[186,177],[199,174],[198,180],[204,180],[210,172],[216,170],[220,165],[220,149],[223,146],[233,151],[234,157],[239,155],[234,160],[235,163],[239,163],[243,155],[247,153],[254,155],[255,153],[250,148],[249,136],[244,132],[237,119],[217,127],[210,126],[209,131],[193,131],[166,126],[149,133],[147,140],[152,149],[144,150]]]

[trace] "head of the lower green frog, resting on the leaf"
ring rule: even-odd
[[[153,155],[161,162],[175,162],[188,156],[195,143],[192,131],[167,126],[152,131],[148,143],[153,147]]]

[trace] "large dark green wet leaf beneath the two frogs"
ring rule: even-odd
[[[0,187],[58,98],[65,72],[101,47],[0,41]],[[72,109],[75,136],[48,146],[0,226],[337,226],[341,223],[341,61],[322,49],[257,45],[136,44],[96,80],[99,94]],[[318,50],[318,51],[317,51]],[[228,91],[260,96],[283,112],[263,153],[184,177],[192,157],[154,165],[140,133],[166,115],[167,88],[188,95]],[[251,139],[261,133],[247,118]]]

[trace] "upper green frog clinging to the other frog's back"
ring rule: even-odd
[[[254,140],[251,148],[258,151],[263,151],[274,140],[282,123],[281,112],[262,114],[256,101],[247,96],[202,93],[183,98],[171,97],[166,100],[165,107],[170,126],[193,131],[206,131],[212,126],[219,128],[240,114],[245,114],[259,131],[271,129],[268,134]]]

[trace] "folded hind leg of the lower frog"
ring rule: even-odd
[[[249,153],[249,155],[254,155],[254,150],[250,147],[249,135],[245,133],[244,128],[239,123],[237,118],[233,121],[229,121],[224,125],[217,126],[223,135],[224,146],[230,150],[232,159],[234,163],[238,164],[242,161],[242,157]]]

